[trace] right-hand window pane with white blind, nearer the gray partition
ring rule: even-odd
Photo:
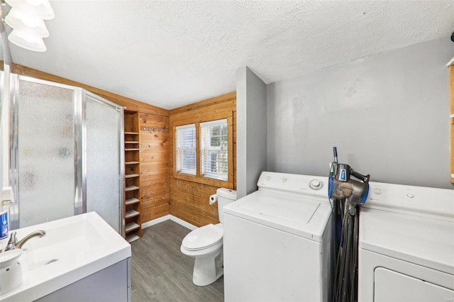
[[[200,123],[201,175],[228,180],[227,119]]]

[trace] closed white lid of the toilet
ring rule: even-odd
[[[201,250],[206,247],[216,245],[222,240],[223,229],[218,225],[205,225],[201,228],[196,228],[183,239],[183,247],[186,250],[194,251]]]

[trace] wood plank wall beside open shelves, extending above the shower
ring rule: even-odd
[[[3,62],[1,62],[3,66]],[[57,77],[22,65],[13,64],[11,72],[35,79],[78,86],[140,115],[140,191],[142,223],[166,216],[170,213],[169,184],[169,111],[141,101],[113,94],[109,91],[88,86],[70,79]],[[165,129],[165,132],[142,130],[143,127]]]

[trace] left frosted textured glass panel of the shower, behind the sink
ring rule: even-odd
[[[21,228],[74,216],[73,94],[71,89],[19,82]]]

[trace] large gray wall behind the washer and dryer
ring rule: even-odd
[[[371,181],[450,184],[448,37],[267,85],[267,169],[328,176],[339,162]]]

